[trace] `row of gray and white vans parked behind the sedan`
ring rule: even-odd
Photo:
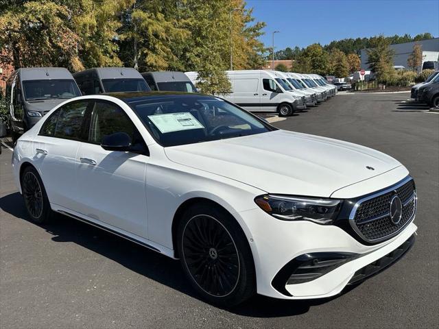
[[[252,112],[278,112],[281,116],[324,101],[336,88],[320,75],[276,71],[228,71],[232,93],[224,98]],[[72,97],[130,91],[182,91],[196,93],[196,72],[147,72],[125,67],[95,68],[74,73],[64,68],[25,68],[6,83],[12,138],[32,127],[56,105]]]

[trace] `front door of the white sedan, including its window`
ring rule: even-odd
[[[132,137],[133,150],[146,150],[143,138],[117,104],[96,100],[88,141],[80,143],[77,180],[78,212],[115,228],[147,237],[145,175],[148,156],[127,151],[107,151],[102,138],[115,132]]]

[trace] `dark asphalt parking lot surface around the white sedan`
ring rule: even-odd
[[[194,295],[180,264],[84,223],[27,221],[0,155],[1,328],[438,328],[439,114],[408,93],[344,94],[273,123],[400,160],[418,191],[418,236],[403,259],[326,300],[256,296],[227,310]],[[322,159],[323,161],[324,159]]]

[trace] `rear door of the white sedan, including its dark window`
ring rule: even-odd
[[[93,101],[73,101],[50,114],[34,139],[34,163],[51,204],[74,210],[76,153],[86,136],[84,118]]]

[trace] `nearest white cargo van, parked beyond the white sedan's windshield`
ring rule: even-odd
[[[289,86],[272,71],[243,70],[226,71],[226,73],[232,86],[232,93],[221,97],[241,108],[251,112],[278,112],[281,117],[306,108],[305,98],[290,93]],[[198,74],[196,72],[185,74],[196,85]]]

